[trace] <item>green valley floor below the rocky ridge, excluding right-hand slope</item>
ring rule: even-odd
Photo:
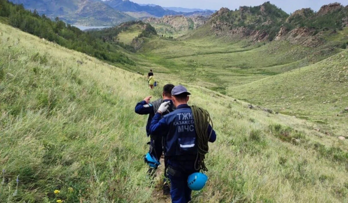
[[[206,28],[193,32],[202,30]],[[346,29],[337,36],[341,32]],[[225,94],[227,88],[305,67],[342,51],[329,43],[309,48],[285,40],[269,43],[225,40],[209,34],[182,40],[153,38],[143,46],[141,55],[157,64],[156,72],[180,75],[184,81]]]

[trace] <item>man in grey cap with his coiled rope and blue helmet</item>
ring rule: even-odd
[[[204,164],[208,151],[208,141],[214,142],[209,113],[196,106],[190,107],[190,93],[184,86],[175,86],[172,101],[176,110],[164,115],[171,103],[164,102],[152,118],[150,133],[156,139],[163,137],[165,166],[171,182],[173,203],[187,203],[192,190],[204,187],[207,176],[199,171],[207,171]]]

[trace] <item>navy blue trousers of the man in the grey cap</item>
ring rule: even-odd
[[[172,203],[187,203],[191,200],[192,190],[187,186],[188,175],[174,177],[168,174],[171,180]]]

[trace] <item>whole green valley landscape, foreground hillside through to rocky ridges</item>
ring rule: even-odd
[[[0,202],[170,202],[161,175],[146,178],[134,112],[167,83],[188,87],[217,134],[192,202],[348,201],[348,6],[222,8],[169,39],[0,3]]]

